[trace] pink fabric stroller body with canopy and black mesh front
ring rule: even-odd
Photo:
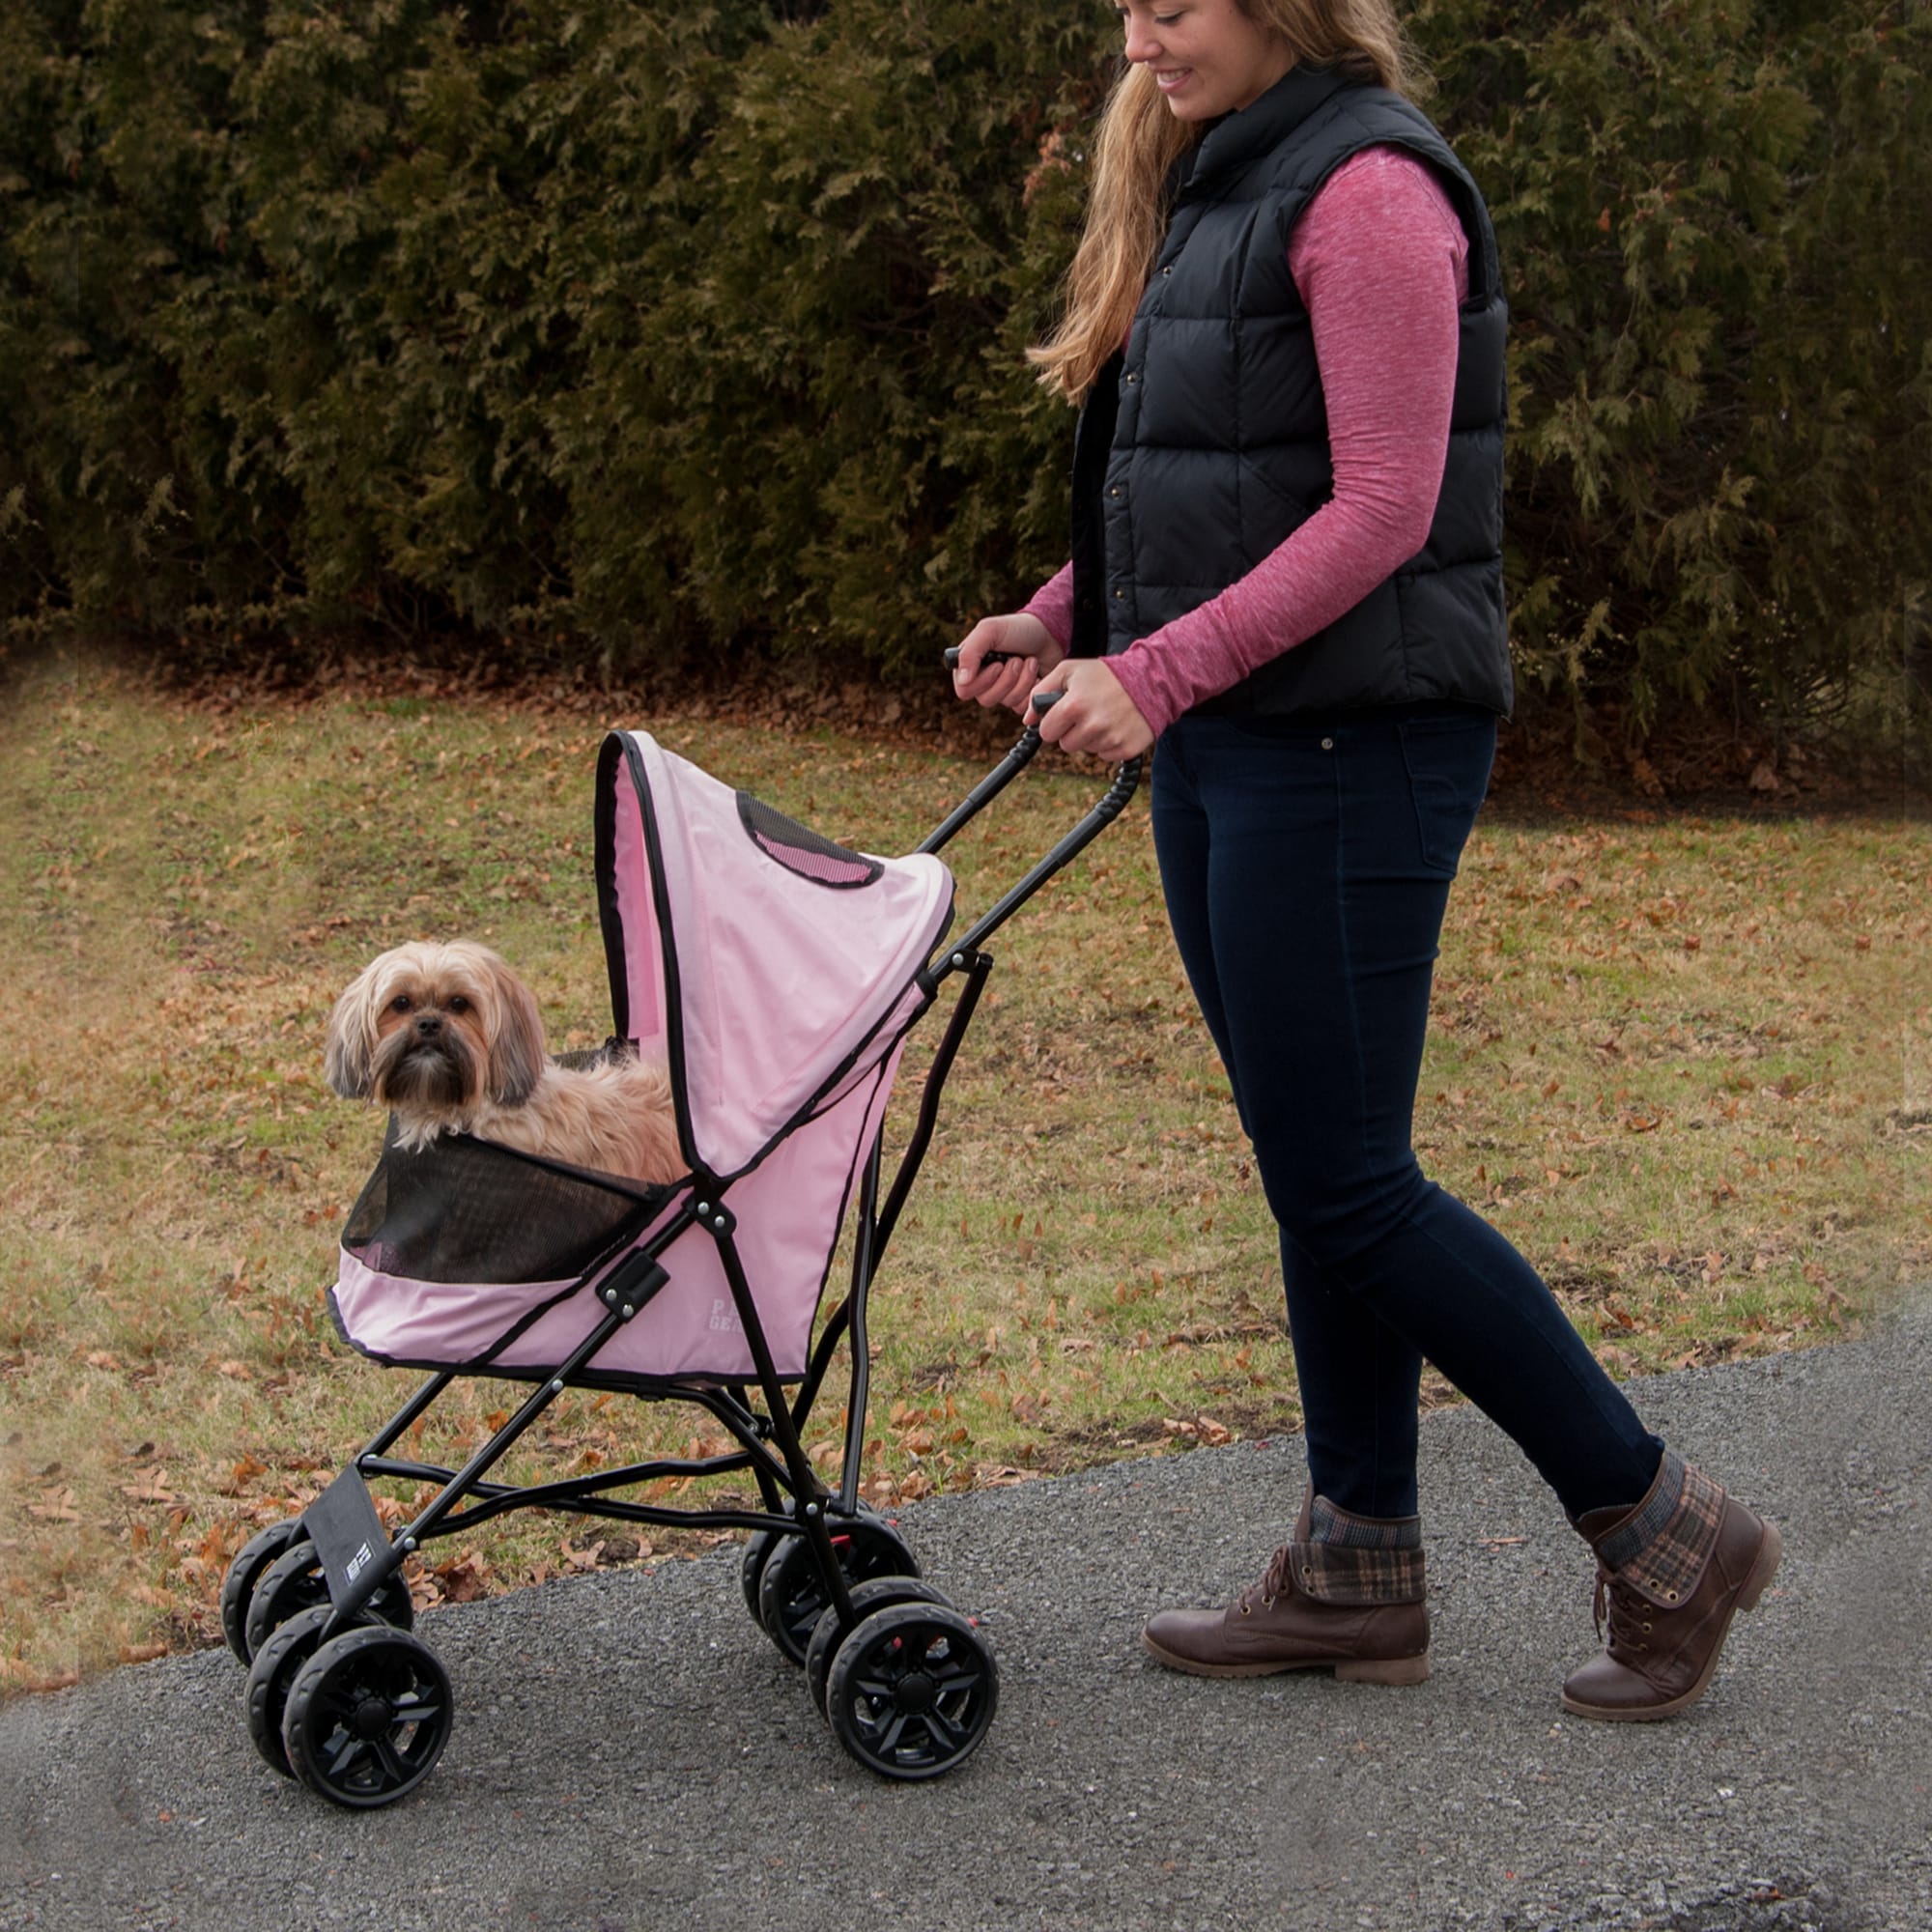
[[[920,970],[952,877],[922,852],[848,852],[647,734],[612,732],[597,900],[616,1034],[668,1065],[694,1179],[638,1188],[460,1136],[384,1148],[344,1231],[336,1325],[381,1362],[541,1374],[603,1316],[580,1291],[694,1188],[730,1182],[759,1325],[798,1378],[906,1030],[931,1001]],[[668,1283],[593,1379],[752,1374],[709,1235],[686,1229],[659,1260]]]

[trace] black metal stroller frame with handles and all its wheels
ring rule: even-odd
[[[916,852],[943,850],[1032,763],[1039,746],[1037,726],[1028,724]],[[518,1325],[479,1358],[437,1368],[299,1517],[263,1530],[236,1555],[222,1590],[222,1623],[236,1656],[249,1665],[249,1731],[274,1770],[352,1808],[394,1803],[421,1783],[448,1739],[450,1692],[440,1663],[410,1634],[413,1611],[402,1569],[429,1542],[512,1509],[750,1532],[742,1569],[746,1604],[779,1650],[806,1665],[813,1700],[844,1748],[893,1779],[943,1776],[970,1754],[997,1702],[991,1652],[968,1619],[918,1580],[918,1563],[896,1526],[871,1513],[858,1493],[871,1368],[866,1304],[993,968],[985,943],[1121,815],[1140,773],[1140,759],[1122,763],[1078,825],[960,939],[935,947],[914,974],[918,999],[895,1020],[898,1039],[931,1010],[947,980],[958,981],[956,997],[891,1179],[883,1103],[860,1153],[850,1283],[817,1323],[802,1374],[782,1376],[767,1343],[736,1242],[732,1182],[701,1167],[676,1188],[638,1192],[618,1182],[636,1196],[636,1211],[554,1298],[568,1300],[593,1287],[603,1304],[595,1327],[564,1362],[545,1370],[495,1364],[522,1331]],[[680,1192],[674,1211],[653,1227]],[[850,1200],[838,1219],[846,1213],[854,1213]],[[645,1229],[647,1238],[638,1242]],[[659,1256],[692,1229],[715,1244],[753,1374],[599,1376],[599,1354],[670,1281]],[[850,1358],[844,1455],[838,1484],[829,1488],[806,1453],[804,1432],[842,1345]],[[535,1387],[460,1468],[398,1455],[402,1437],[448,1385],[477,1374],[529,1379]],[[491,1470],[566,1389],[597,1387],[692,1403],[723,1428],[732,1447],[553,1482],[491,1480]],[[682,1507],[614,1493],[663,1478],[728,1474],[750,1476],[759,1507]],[[381,1478],[437,1486],[394,1536],[367,1490]]]

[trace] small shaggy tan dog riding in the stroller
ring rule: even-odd
[[[328,1016],[328,1084],[396,1117],[404,1148],[475,1134],[572,1167],[670,1182],[670,1078],[620,1059],[556,1066],[529,987],[489,947],[412,943],[373,960]]]

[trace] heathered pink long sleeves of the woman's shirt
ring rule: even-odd
[[[1350,611],[1422,549],[1441,493],[1468,238],[1434,172],[1370,147],[1289,238],[1327,404],[1333,495],[1244,578],[1107,665],[1148,724],[1238,684]],[[1072,564],[1026,609],[1072,636]]]

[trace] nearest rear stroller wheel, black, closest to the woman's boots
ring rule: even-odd
[[[869,1772],[941,1777],[985,1737],[999,1669],[980,1633],[939,1604],[889,1604],[838,1646],[825,1685],[838,1743]]]

